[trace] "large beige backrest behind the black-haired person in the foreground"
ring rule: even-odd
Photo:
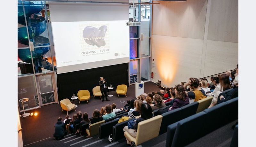
[[[144,143],[158,136],[162,118],[162,115],[157,115],[138,123],[136,145]],[[152,124],[154,124],[154,126],[152,126]]]

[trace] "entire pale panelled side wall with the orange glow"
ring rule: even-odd
[[[238,64],[238,0],[156,1],[151,81],[173,87]]]

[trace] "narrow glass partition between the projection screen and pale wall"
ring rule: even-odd
[[[133,0],[129,0],[130,3]],[[135,81],[151,81],[151,18],[152,5],[142,4],[151,2],[149,0],[134,0],[135,4],[129,5],[129,18],[140,21],[140,26],[130,27],[130,63],[129,63],[129,82],[130,85]],[[143,40],[141,35],[143,34]]]

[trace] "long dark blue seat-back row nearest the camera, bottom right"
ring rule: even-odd
[[[188,145],[236,119],[238,97],[169,125],[165,146]]]

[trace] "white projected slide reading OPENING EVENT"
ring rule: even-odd
[[[97,63],[91,68],[100,67],[97,61],[129,62],[129,27],[125,20],[52,22],[52,32],[57,71],[58,67],[91,62]]]

